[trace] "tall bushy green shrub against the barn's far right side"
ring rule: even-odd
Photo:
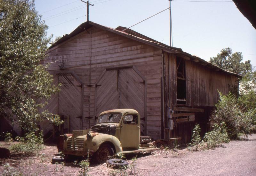
[[[215,122],[224,122],[228,127],[229,137],[235,139],[239,132],[250,134],[252,119],[246,114],[242,106],[237,102],[236,96],[229,92],[228,95],[220,93],[220,100],[213,113]]]

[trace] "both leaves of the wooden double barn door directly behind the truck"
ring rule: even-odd
[[[144,135],[145,81],[134,68],[105,70],[95,87],[96,117],[110,109],[135,109]]]

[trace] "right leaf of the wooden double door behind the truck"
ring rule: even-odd
[[[144,117],[144,80],[132,68],[119,70],[119,109],[135,109]],[[143,120],[140,132],[144,135]]]

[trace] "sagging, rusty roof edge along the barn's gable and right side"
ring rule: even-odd
[[[129,34],[129,33],[126,33],[126,32],[123,32],[123,31],[119,31],[119,30],[116,30],[116,29],[113,29],[113,28],[110,28],[110,27],[107,27],[107,26],[103,26],[103,25],[99,25],[97,23],[93,23],[92,21],[86,21],[84,23],[82,23],[81,25],[79,25],[74,31],[72,31],[70,34],[65,34],[63,35],[63,37],[61,37],[58,41],[56,41],[52,46],[50,46],[48,48],[48,50],[45,52],[46,54],[51,52],[52,50],[54,50],[55,48],[58,47],[59,44],[61,44],[62,42],[76,36],[77,34],[81,33],[81,32],[84,32],[86,29],[89,29],[91,28],[92,26],[95,26],[97,28],[100,28],[102,30],[106,30],[106,31],[109,31],[109,32],[113,32],[113,33],[116,33],[118,35],[121,35],[121,36],[124,36],[126,38],[129,38],[129,39],[133,39],[133,40],[136,40],[138,42],[141,42],[141,43],[144,43],[144,44],[147,44],[147,45],[150,45],[150,46],[154,46],[154,47],[157,47],[159,49],[162,49],[163,51],[167,52],[167,53],[174,53],[174,54],[177,54],[178,56],[180,57],[184,57],[184,58],[191,58],[192,61],[196,61],[196,62],[199,62],[201,65],[203,66],[208,66],[210,67],[210,69],[217,69],[217,70],[220,70],[222,72],[225,72],[225,73],[228,73],[228,74],[233,74],[235,75],[236,77],[238,78],[242,78],[241,75],[239,74],[236,74],[236,73],[233,73],[233,72],[229,72],[227,70],[224,70],[220,67],[217,67],[215,65],[212,65],[211,63],[197,57],[197,56],[193,56],[189,53],[186,53],[184,51],[182,51],[181,48],[176,48],[176,47],[172,47],[172,46],[168,46],[168,45],[165,45],[161,42],[157,42],[156,40],[154,39],[151,39],[147,36],[144,36],[138,32],[138,34],[140,34],[141,36],[144,36],[143,38],[140,38],[138,36],[135,36],[135,35],[132,35],[132,34]],[[119,26],[121,27],[121,26]],[[132,30],[132,32],[135,32]]]

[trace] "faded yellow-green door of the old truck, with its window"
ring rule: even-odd
[[[140,124],[138,123],[138,115],[128,113],[124,115],[121,132],[120,142],[123,149],[137,149],[140,145]]]

